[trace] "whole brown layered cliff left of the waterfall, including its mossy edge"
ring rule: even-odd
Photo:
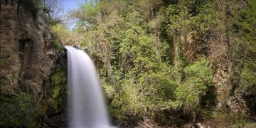
[[[45,114],[64,102],[66,58],[35,14],[18,1],[1,1],[0,96],[26,92]]]

